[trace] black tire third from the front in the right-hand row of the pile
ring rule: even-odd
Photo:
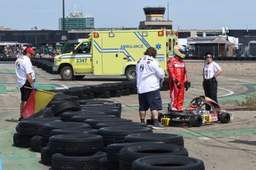
[[[125,142],[163,142],[184,147],[183,136],[168,133],[142,133],[125,136]]]

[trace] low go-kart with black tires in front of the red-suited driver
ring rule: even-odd
[[[202,108],[206,103],[211,106],[210,112]],[[201,95],[194,98],[189,105],[191,108],[181,111],[173,110],[169,105],[167,114],[159,113],[160,123],[165,126],[199,127],[205,123],[229,123],[230,120],[233,120],[233,113],[221,109],[218,103],[206,96]],[[147,124],[151,124],[151,120],[147,120]]]

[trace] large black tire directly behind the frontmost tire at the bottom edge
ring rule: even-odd
[[[183,146],[170,143],[143,143],[125,146],[119,152],[120,169],[131,169],[134,160],[146,156],[171,155],[188,156],[188,150]]]

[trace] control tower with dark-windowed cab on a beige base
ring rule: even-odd
[[[144,7],[145,21],[140,21],[139,29],[172,29],[172,21],[164,21],[165,7]]]

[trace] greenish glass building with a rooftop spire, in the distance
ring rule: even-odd
[[[90,15],[84,15],[76,11],[65,17],[65,30],[88,30],[94,28],[94,18]],[[63,18],[59,18],[59,30],[63,30]]]

